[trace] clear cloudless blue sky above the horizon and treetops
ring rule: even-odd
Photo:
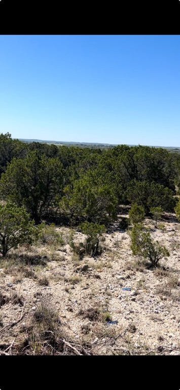
[[[180,146],[180,36],[0,36],[0,132]]]

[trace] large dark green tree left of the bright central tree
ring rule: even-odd
[[[53,212],[63,185],[62,164],[57,158],[30,152],[26,158],[13,159],[1,178],[3,199],[25,206],[36,223]]]

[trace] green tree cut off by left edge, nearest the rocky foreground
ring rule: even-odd
[[[32,244],[37,235],[38,229],[24,208],[11,203],[0,204],[0,253],[3,256],[19,244]]]

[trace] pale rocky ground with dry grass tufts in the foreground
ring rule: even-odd
[[[161,222],[164,231],[146,219],[170,252],[157,269],[132,255],[118,223],[96,258],[80,261],[69,241],[85,236],[57,228],[64,245],[21,247],[2,259],[0,354],[180,354],[180,224],[175,214]]]

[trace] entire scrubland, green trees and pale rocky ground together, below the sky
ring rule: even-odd
[[[180,154],[7,133],[0,175],[0,354],[180,354]]]

